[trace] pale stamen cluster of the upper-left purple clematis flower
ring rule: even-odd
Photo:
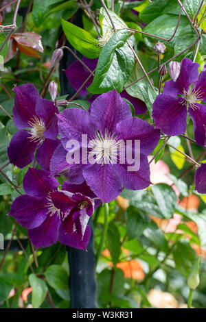
[[[45,139],[43,133],[45,132],[45,122],[43,119],[38,119],[37,116],[34,116],[28,124],[32,127],[30,129],[30,140],[38,143],[43,143]]]

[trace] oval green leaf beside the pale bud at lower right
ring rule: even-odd
[[[179,241],[173,251],[176,269],[188,277],[196,259],[196,253],[189,243]]]

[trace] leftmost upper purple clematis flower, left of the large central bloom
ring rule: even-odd
[[[43,169],[49,170],[50,158],[60,143],[56,138],[58,108],[52,101],[42,99],[32,84],[15,86],[13,90],[14,124],[19,131],[8,147],[10,162],[23,168],[34,160],[38,148],[36,160]]]

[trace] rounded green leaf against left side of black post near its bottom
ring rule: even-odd
[[[67,290],[69,277],[67,271],[59,265],[51,265],[45,271],[47,283],[53,288]]]

